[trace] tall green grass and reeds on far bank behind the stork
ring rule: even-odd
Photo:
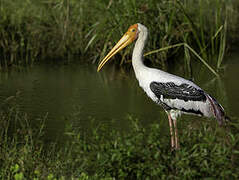
[[[186,43],[219,69],[226,44],[230,45],[227,39],[237,39],[238,7],[233,0],[1,0],[0,65],[81,59],[78,56],[98,63],[129,25],[140,22],[150,30],[146,52]],[[165,67],[169,59],[182,54],[189,64],[184,48],[150,59]],[[130,55],[131,48],[121,52],[119,63]]]

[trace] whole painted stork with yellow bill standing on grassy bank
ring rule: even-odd
[[[221,125],[225,119],[223,107],[199,86],[184,78],[169,74],[143,64],[143,50],[148,29],[140,24],[129,27],[119,42],[100,62],[97,71],[117,52],[137,39],[132,64],[139,85],[146,94],[166,111],[169,120],[171,148],[179,148],[177,117],[182,113],[214,117]]]

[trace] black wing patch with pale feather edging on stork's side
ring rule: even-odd
[[[189,84],[183,83],[176,85],[173,82],[161,83],[152,82],[150,83],[150,89],[153,91],[155,96],[162,101],[162,99],[179,99],[187,101],[203,101],[205,102],[207,97],[203,90],[197,89]]]

